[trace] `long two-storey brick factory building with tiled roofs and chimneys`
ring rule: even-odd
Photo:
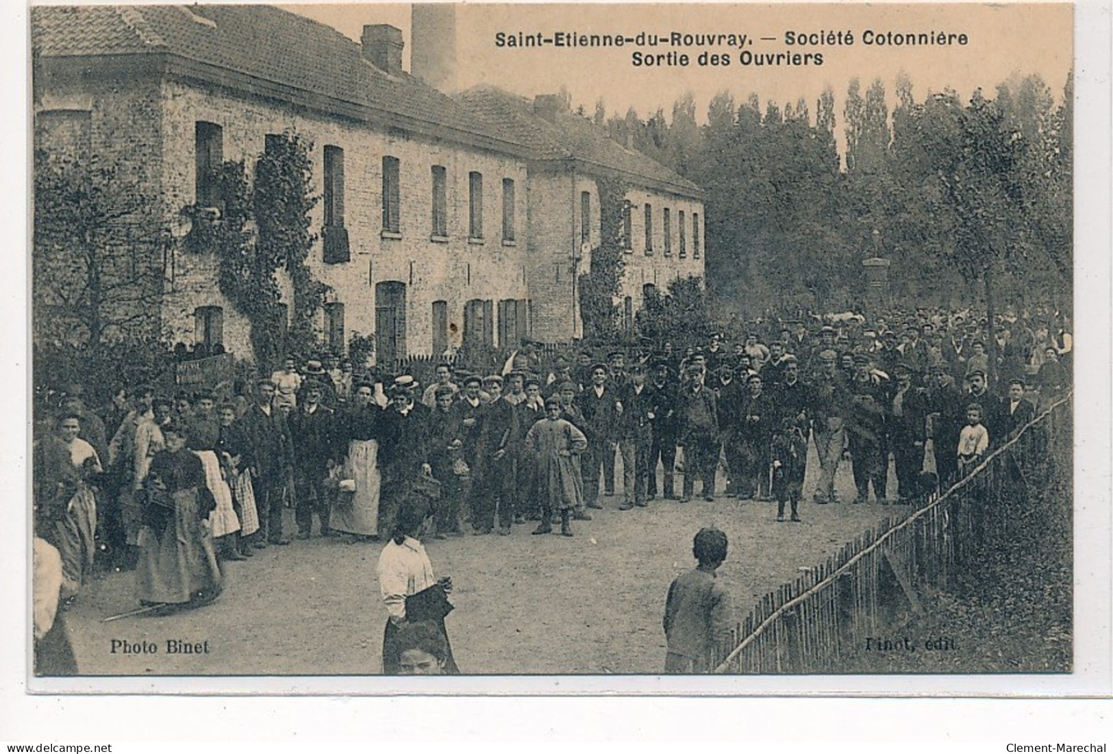
[[[626,317],[646,286],[702,277],[698,187],[554,97],[455,92],[444,82],[455,47],[434,44],[454,33],[453,12],[414,8],[414,66],[439,71],[440,91],[402,70],[402,33],[385,24],[357,43],[266,6],[37,7],[36,142],[136,168],[135,190],[173,230],[184,207],[219,207],[213,167],[250,170],[268,135],[295,130],[313,143],[322,195],[308,259],[331,288],[322,340],[343,351],[353,333],[374,334],[380,361],[579,336],[574,281],[600,238],[598,178],[629,187]],[[249,357],[215,256],[168,237],[132,262],[161,272],[144,326]]]

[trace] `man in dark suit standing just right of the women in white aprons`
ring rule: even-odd
[[[243,418],[252,447],[252,472],[255,503],[259,514],[259,530],[254,535],[255,547],[268,544],[288,545],[283,535],[283,490],[286,472],[294,460],[294,440],[286,424],[286,413],[275,407],[275,386],[262,378],[255,386],[255,403]]]

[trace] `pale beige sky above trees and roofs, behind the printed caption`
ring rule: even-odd
[[[353,3],[287,6],[290,10],[327,23],[352,39],[359,39],[365,23],[391,23],[406,41],[403,65],[410,67],[410,6]],[[589,112],[602,97],[608,115],[633,107],[647,118],[664,108],[671,119],[672,103],[686,91],[696,96],[697,118],[707,117],[707,105],[727,89],[741,103],[751,91],[762,102],[784,106],[804,97],[812,118],[816,99],[825,86],[836,95],[836,119],[841,125],[843,96],[854,77],[863,89],[875,78],[886,83],[892,99],[893,82],[900,71],[914,86],[917,100],[927,91],[953,88],[968,98],[975,88],[987,93],[1012,76],[1040,73],[1052,92],[1061,96],[1072,62],[1072,9],[1065,3],[973,4],[457,4],[460,83],[467,88],[490,83],[532,97],[555,92],[565,86],[573,103]],[[636,68],[636,50],[667,52],[672,48],[624,46],[609,49],[498,49],[495,33],[555,31],[623,33],[680,31],[745,33],[754,41],[743,49],[759,53],[820,52],[821,66],[758,67],[739,65],[738,48],[696,47],[687,50],[688,67]],[[881,47],[863,42],[866,30],[894,32],[965,33],[965,46]],[[853,31],[853,46],[788,47],[785,32]],[[762,41],[760,38],[775,38]],[[702,49],[730,53],[727,68],[699,67]]]

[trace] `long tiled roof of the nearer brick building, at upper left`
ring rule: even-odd
[[[31,28],[40,58],[169,53],[506,143],[451,97],[375,68],[335,29],[269,6],[39,6]]]

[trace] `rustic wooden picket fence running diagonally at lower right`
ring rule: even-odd
[[[830,673],[867,637],[922,613],[1018,526],[1041,530],[1072,505],[1072,396],[1053,403],[947,489],[888,518],[766,595],[717,648],[716,673]],[[1032,494],[1040,490],[1042,494]]]

